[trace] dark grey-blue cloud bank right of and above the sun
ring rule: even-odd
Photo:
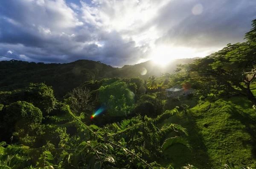
[[[251,28],[251,21],[256,19],[256,1],[254,0],[198,2],[203,6],[202,13],[191,14],[195,3],[187,4],[183,10],[184,16],[179,16],[180,20],[177,23],[176,19],[171,19],[174,26],[157,39],[156,44],[174,44],[193,48],[224,47],[228,43],[243,41],[244,34]],[[166,7],[163,15],[168,12],[169,8]],[[186,16],[186,13],[190,14]],[[172,13],[169,15],[173,16]],[[160,28],[168,28],[164,20],[158,21],[157,24]]]

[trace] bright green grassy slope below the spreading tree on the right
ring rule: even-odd
[[[252,87],[256,93],[256,85]],[[227,160],[240,166],[256,168],[256,110],[246,98],[219,99],[211,104],[204,102],[164,122],[186,127],[188,141],[193,147],[189,152],[182,145],[166,151],[167,159],[162,165],[172,164],[175,168],[193,164],[199,168],[220,168],[219,163]]]

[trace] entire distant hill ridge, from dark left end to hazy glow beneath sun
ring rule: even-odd
[[[165,68],[155,65],[152,61],[137,65],[125,65],[123,68],[113,68],[101,62],[77,60],[70,63],[24,62],[17,60],[0,62],[0,90],[14,90],[26,87],[29,83],[44,82],[52,86],[58,99],[62,98],[74,87],[85,81],[103,78],[131,78],[140,76],[147,79],[150,75],[160,76],[161,73],[172,73],[177,64],[192,63],[194,59],[177,59]],[[141,75],[142,68],[147,70]]]

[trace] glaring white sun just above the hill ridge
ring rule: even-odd
[[[189,58],[192,53],[188,48],[159,46],[154,48],[151,59],[159,65],[167,65],[174,59]]]

